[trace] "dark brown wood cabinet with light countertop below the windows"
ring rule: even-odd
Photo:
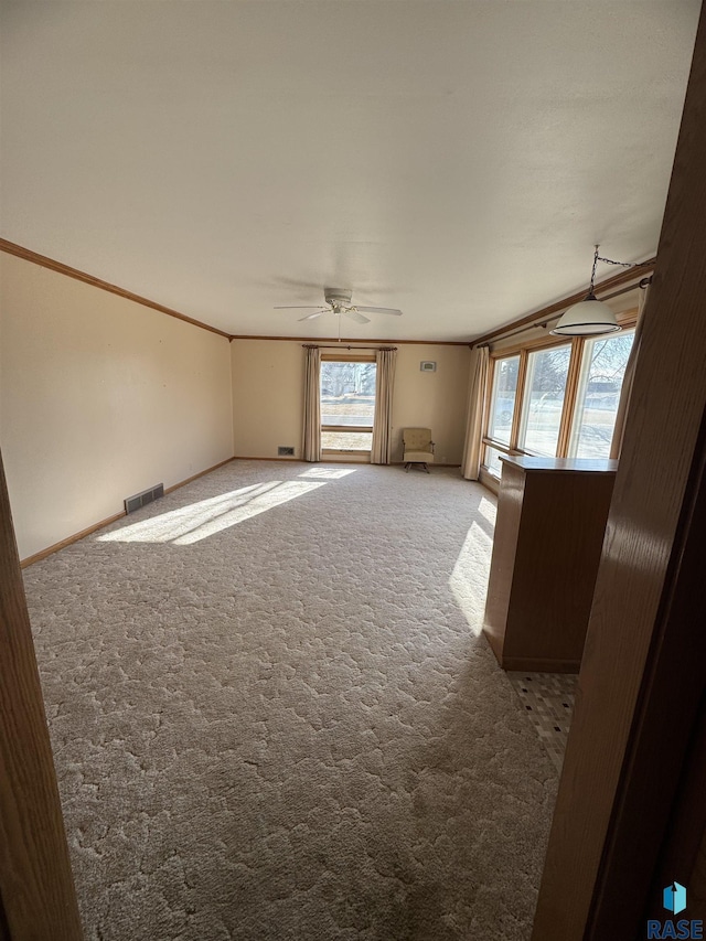
[[[505,670],[578,673],[616,469],[503,459],[483,630]]]

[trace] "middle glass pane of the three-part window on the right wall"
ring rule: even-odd
[[[523,451],[549,458],[556,455],[570,356],[570,343],[527,355],[518,437]]]

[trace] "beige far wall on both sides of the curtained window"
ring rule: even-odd
[[[402,429],[432,430],[439,463],[461,462],[470,350],[397,344],[393,403],[393,460],[402,460]],[[300,341],[234,340],[233,423],[236,457],[275,458],[279,445],[301,459],[304,353]],[[331,351],[327,351],[331,352]],[[422,373],[434,360],[436,373]]]

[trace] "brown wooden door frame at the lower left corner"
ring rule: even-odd
[[[0,939],[82,937],[0,455]]]

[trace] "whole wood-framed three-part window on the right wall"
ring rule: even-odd
[[[492,357],[483,467],[495,478],[503,455],[610,456],[637,311],[620,333],[547,338]]]

